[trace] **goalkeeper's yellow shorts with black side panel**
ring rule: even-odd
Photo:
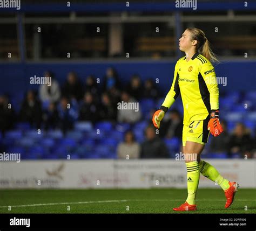
[[[182,144],[186,146],[186,141],[192,141],[199,144],[208,142],[210,131],[208,131],[208,122],[210,116],[205,120],[191,121],[190,125],[183,125]]]

